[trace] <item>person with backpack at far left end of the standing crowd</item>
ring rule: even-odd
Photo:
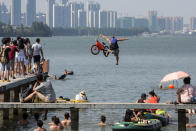
[[[11,51],[9,48],[9,43],[11,39],[10,38],[3,38],[0,49],[0,62],[1,62],[1,82],[5,81],[4,78],[4,72],[6,71],[6,78],[7,82],[10,82],[9,80],[9,71],[10,71],[10,61],[9,61],[9,52]]]

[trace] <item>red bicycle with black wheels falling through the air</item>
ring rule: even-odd
[[[107,57],[109,55],[106,55],[108,49],[109,47],[104,42],[101,43],[97,39],[96,44],[92,45],[90,50],[93,55],[98,55],[100,51],[103,51],[104,56]]]

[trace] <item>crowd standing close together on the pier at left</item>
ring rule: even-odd
[[[33,58],[33,66],[32,66]],[[40,39],[31,44],[29,38],[2,38],[0,47],[1,82],[10,82],[10,78],[25,77],[30,73],[41,72],[41,60],[44,60]]]

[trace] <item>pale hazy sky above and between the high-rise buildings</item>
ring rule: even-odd
[[[11,0],[0,0],[9,4]],[[57,0],[58,1],[58,0]],[[86,1],[86,0],[71,0]],[[196,16],[196,0],[96,0],[104,10],[116,10],[119,16],[147,16],[148,10],[157,10],[159,16],[183,16],[189,22]],[[46,0],[37,0],[38,11],[45,12]],[[23,11],[25,0],[22,0]]]

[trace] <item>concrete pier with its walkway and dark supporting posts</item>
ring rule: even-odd
[[[36,76],[27,76],[10,83],[0,83],[0,120],[12,119],[19,109],[70,109],[72,130],[79,130],[79,109],[170,109],[178,110],[178,131],[186,131],[186,109],[196,109],[196,104],[141,104],[141,103],[20,103],[20,90],[32,86]]]

